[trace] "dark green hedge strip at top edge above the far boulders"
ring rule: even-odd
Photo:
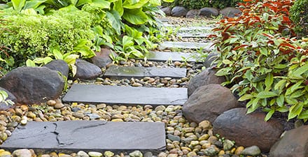
[[[188,9],[200,9],[204,7],[225,8],[236,6],[241,0],[175,0],[173,3],[165,3],[165,6],[183,6]]]

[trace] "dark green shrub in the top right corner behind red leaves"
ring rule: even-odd
[[[299,37],[308,35],[308,0],[296,0],[290,8],[290,19],[295,22]]]

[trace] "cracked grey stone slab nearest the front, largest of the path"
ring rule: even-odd
[[[36,151],[162,151],[165,124],[156,122],[29,121],[1,149]]]

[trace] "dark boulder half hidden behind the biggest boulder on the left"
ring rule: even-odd
[[[66,78],[69,77],[69,65],[62,59],[55,59],[45,65],[45,67],[51,70],[56,70],[62,73]]]

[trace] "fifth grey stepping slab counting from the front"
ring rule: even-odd
[[[179,48],[179,49],[200,49],[211,51],[214,49],[213,43],[193,43],[193,42],[172,42],[165,41],[164,43],[160,43],[160,50]]]

